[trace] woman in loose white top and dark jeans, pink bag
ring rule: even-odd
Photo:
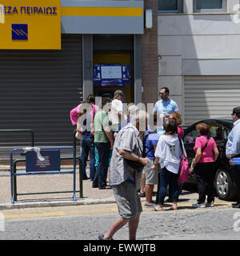
[[[166,121],[164,123],[164,130],[166,130],[166,134],[160,136],[157,148],[155,150],[156,158],[154,161],[154,166],[157,166],[158,164],[161,166],[158,206],[154,208],[154,210],[156,211],[162,210],[164,198],[166,197],[166,187],[169,182],[173,188],[174,197],[174,203],[171,209],[178,210],[178,170],[180,160],[182,158],[182,150],[178,138],[178,126],[175,122]],[[186,151],[183,143],[182,149],[183,154],[186,156]],[[152,168],[154,166],[152,166]]]

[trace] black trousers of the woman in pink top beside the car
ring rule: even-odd
[[[198,181],[198,204],[214,201],[214,162],[198,162],[195,167]]]

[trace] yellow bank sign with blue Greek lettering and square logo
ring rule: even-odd
[[[0,0],[0,49],[61,49],[60,0]]]

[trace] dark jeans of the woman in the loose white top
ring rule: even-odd
[[[179,196],[179,186],[178,186],[178,174],[174,174],[166,169],[166,167],[161,169],[160,172],[160,190],[158,203],[159,205],[163,205],[164,198],[166,197],[166,187],[170,183],[173,189],[173,198],[174,202],[178,202]]]

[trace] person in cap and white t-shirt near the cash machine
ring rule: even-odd
[[[114,92],[114,99],[112,101],[112,107],[110,111],[110,120],[112,122],[112,130],[118,130],[119,124],[125,119],[125,114],[123,113],[123,92],[122,90],[116,90]]]

